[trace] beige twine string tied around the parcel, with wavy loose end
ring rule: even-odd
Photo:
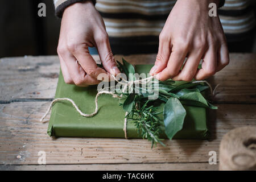
[[[115,78],[114,75],[112,75],[112,76],[114,77],[114,80],[115,80],[115,81],[117,81],[117,82],[120,83],[120,81],[117,80],[117,78]],[[122,81],[125,82],[125,84],[122,83],[122,84],[124,85],[122,91],[126,90],[127,86],[130,86],[131,84],[134,84],[134,83],[146,84],[149,80],[152,80],[153,78],[155,78],[155,76],[150,76],[150,77],[147,77],[147,78],[144,78],[144,79],[141,79],[141,80],[135,80],[135,81],[122,80]],[[146,81],[146,82],[145,82],[145,81]],[[214,94],[216,88],[218,87],[218,85],[217,85],[216,88],[213,90],[213,89],[212,89],[212,86],[209,84],[209,82],[207,82],[207,81],[205,81],[205,80],[203,80],[203,81],[193,81],[192,83],[201,83],[201,82],[204,82],[204,83],[206,83],[206,84],[209,86],[210,92],[211,92],[212,95]],[[45,113],[45,114],[43,115],[43,117],[40,119],[40,122],[43,122],[43,123],[48,122],[48,121],[44,121],[44,119],[46,118],[46,116],[47,116],[47,115],[49,114],[49,112],[51,111],[52,106],[53,106],[56,102],[60,102],[60,101],[69,101],[69,102],[71,102],[71,104],[75,107],[76,111],[79,112],[79,114],[80,114],[81,116],[83,116],[83,117],[86,117],[86,118],[88,118],[88,117],[93,117],[94,115],[96,115],[96,114],[98,113],[98,97],[99,97],[101,94],[110,94],[110,95],[112,95],[113,98],[122,98],[122,97],[123,97],[122,94],[121,94],[121,96],[118,96],[117,94],[114,94],[113,92],[110,92],[110,91],[107,91],[107,90],[100,90],[100,91],[96,94],[96,97],[95,97],[95,110],[94,110],[93,113],[91,113],[91,114],[85,114],[85,113],[83,113],[83,112],[79,109],[79,107],[75,104],[75,102],[74,102],[72,99],[70,99],[70,98],[56,98],[55,100],[53,100],[53,101],[51,102],[51,104],[49,105],[49,107],[48,107],[46,113]],[[125,133],[125,138],[126,138],[126,139],[127,139],[127,118],[126,118],[126,115],[127,115],[127,114],[128,114],[128,113],[126,112],[126,113],[125,113],[124,126],[123,126],[123,131],[124,131],[124,133]]]

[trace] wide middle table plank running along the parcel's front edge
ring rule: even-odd
[[[221,137],[240,126],[256,125],[256,105],[220,105],[209,119],[212,139],[164,140],[166,147],[151,149],[142,139],[50,138],[40,123],[49,102],[0,105],[0,163],[37,164],[46,152],[47,164],[207,163]]]

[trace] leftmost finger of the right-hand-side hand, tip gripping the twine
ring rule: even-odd
[[[154,67],[150,70],[150,75],[155,75],[163,71],[167,67],[169,57],[171,55],[171,41],[163,38],[162,34],[159,36],[158,55]]]

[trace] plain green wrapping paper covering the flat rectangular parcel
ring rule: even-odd
[[[148,73],[152,65],[136,65],[135,72]],[[70,98],[80,110],[90,114],[95,109],[97,86],[81,88],[65,84],[60,72],[55,98]],[[68,101],[56,102],[52,107],[48,126],[48,135],[51,137],[113,137],[125,138],[123,131],[125,111],[118,105],[118,98],[102,94],[98,98],[100,110],[94,117],[82,117]],[[183,129],[174,139],[207,139],[207,112],[203,107],[184,105],[187,115]],[[163,110],[163,105],[159,107]],[[163,114],[159,115],[163,118]],[[133,122],[127,122],[127,137],[140,138]],[[161,138],[167,138],[163,133]]]

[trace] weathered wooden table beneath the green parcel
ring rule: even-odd
[[[125,58],[142,64],[154,63],[155,56]],[[217,170],[208,163],[209,152],[216,151],[218,159],[222,136],[256,126],[255,54],[230,54],[228,67],[209,79],[220,84],[212,98],[219,109],[210,111],[209,141],[164,140],[166,147],[152,149],[142,139],[50,138],[48,124],[39,119],[55,95],[58,75],[57,56],[0,60],[0,169]],[[38,165],[39,151],[46,152],[47,165]]]

